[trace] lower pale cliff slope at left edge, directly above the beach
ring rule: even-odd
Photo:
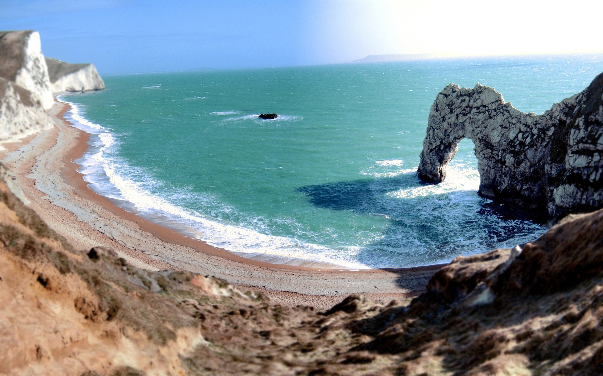
[[[17,141],[52,126],[39,96],[0,78],[0,143]]]

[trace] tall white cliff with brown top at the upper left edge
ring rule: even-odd
[[[31,91],[44,109],[52,107],[48,67],[37,31],[0,31],[0,77]]]

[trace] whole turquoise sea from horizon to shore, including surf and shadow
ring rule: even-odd
[[[488,209],[469,140],[444,183],[418,179],[437,93],[481,82],[541,114],[601,70],[578,56],[149,73],[62,100],[92,134],[80,171],[128,211],[275,263],[411,267],[545,230]]]

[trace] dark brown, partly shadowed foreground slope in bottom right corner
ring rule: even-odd
[[[406,309],[359,326],[356,350],[403,375],[597,375],[603,362],[603,211],[570,215],[514,250],[456,257]]]

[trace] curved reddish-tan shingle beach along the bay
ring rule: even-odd
[[[63,119],[68,109],[66,103],[55,102],[51,109],[55,126],[19,143],[4,144],[0,157],[16,175],[31,208],[75,248],[112,247],[137,267],[209,274],[262,291],[277,303],[317,307],[329,307],[353,293],[382,300],[414,297],[440,268],[349,271],[274,265],[147,221],[88,188],[74,160],[86,152],[89,135]]]

